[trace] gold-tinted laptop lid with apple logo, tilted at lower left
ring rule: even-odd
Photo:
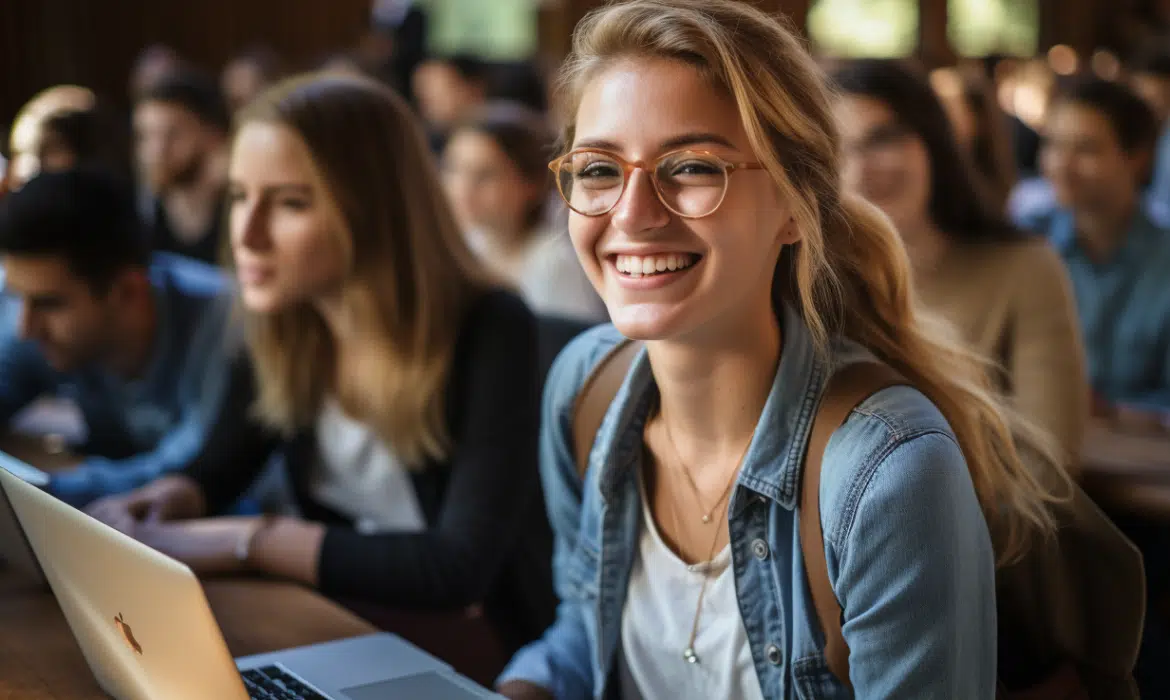
[[[185,565],[0,469],[0,487],[102,688],[118,700],[246,700]]]

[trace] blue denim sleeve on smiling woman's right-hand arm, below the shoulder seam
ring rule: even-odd
[[[921,434],[868,479],[834,586],[856,696],[993,698],[994,556],[958,445]]]

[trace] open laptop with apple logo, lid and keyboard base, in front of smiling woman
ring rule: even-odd
[[[387,633],[233,660],[186,565],[4,468],[0,490],[97,682],[117,700],[498,698]]]

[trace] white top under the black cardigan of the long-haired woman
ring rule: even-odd
[[[353,520],[363,534],[426,529],[414,483],[399,460],[370,430],[330,398],[317,417],[317,460],[309,493]]]

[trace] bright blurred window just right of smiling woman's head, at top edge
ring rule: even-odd
[[[814,0],[808,8],[808,36],[818,53],[833,57],[908,56],[918,42],[918,2]]]

